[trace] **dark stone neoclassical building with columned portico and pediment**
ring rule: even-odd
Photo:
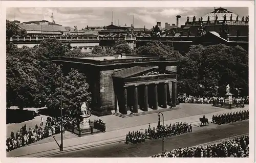
[[[148,56],[95,56],[54,58],[68,73],[79,69],[92,93],[92,114],[104,116],[127,111],[147,112],[176,105],[177,58]]]

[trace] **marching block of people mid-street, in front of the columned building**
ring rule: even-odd
[[[159,139],[162,137],[172,137],[172,135],[179,135],[186,132],[192,132],[192,125],[182,122],[176,122],[173,125],[169,124],[166,126],[158,125],[156,128],[151,128],[151,125],[148,125],[148,128],[145,129],[145,132],[133,131],[126,134],[126,144],[131,143],[141,143],[146,139]]]

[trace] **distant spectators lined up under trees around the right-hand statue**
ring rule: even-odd
[[[203,103],[203,104],[214,104],[214,103],[224,103],[224,97],[185,97],[185,96],[179,96],[177,98],[177,101],[180,103]],[[249,97],[233,97],[232,101],[234,104],[248,104],[249,103]]]

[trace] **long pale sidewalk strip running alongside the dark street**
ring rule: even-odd
[[[235,112],[235,111],[240,111],[240,110],[248,110],[248,107],[235,108],[233,110],[223,110],[223,111],[204,114],[204,115],[210,121],[212,115],[228,113],[228,112]],[[165,116],[165,114],[164,114],[164,116]],[[167,120],[167,121],[164,121],[164,124],[166,125],[166,124],[170,124],[170,123],[173,124],[176,122],[186,122],[188,124],[191,123],[192,125],[198,125],[198,124],[200,124],[199,118],[202,118],[202,117],[203,117],[203,115],[196,115],[196,116],[191,116],[191,117]],[[157,125],[158,125],[158,123],[151,123],[152,127],[155,127]],[[133,130],[144,131],[146,128],[148,128],[148,124],[107,131],[104,133],[88,135],[85,137],[66,139],[66,140],[63,140],[63,152],[67,152],[70,150],[77,150],[79,148],[80,149],[90,148],[93,146],[124,141],[125,135],[129,131],[133,131]],[[58,141],[58,143],[60,143],[60,141]],[[59,151],[59,148],[58,148],[56,142],[54,141],[54,142],[41,143],[41,144],[36,144],[36,145],[32,144],[30,146],[25,146],[22,148],[15,149],[13,151],[7,152],[7,157],[42,157],[42,156],[56,154],[56,153],[60,153],[60,151]]]

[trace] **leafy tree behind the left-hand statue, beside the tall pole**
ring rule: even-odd
[[[60,76],[60,74],[59,74]],[[56,92],[47,98],[48,107],[59,111],[62,91],[62,107],[66,113],[74,116],[79,114],[81,103],[86,102],[89,106],[91,93],[89,85],[86,83],[86,76],[78,70],[71,69],[67,76],[62,77],[62,90],[60,88],[60,77],[58,78],[59,87]]]

